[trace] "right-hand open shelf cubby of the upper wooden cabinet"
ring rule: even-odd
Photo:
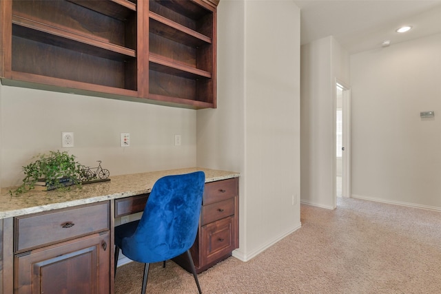
[[[149,3],[149,93],[216,107],[216,10],[194,1]]]

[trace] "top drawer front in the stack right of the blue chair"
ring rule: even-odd
[[[203,204],[211,204],[237,196],[237,178],[207,182],[204,189]]]

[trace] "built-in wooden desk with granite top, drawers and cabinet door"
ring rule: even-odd
[[[81,293],[113,293],[115,218],[142,211],[158,178],[198,170],[205,172],[206,185],[192,248],[195,265],[201,272],[231,255],[238,248],[239,174],[235,172],[154,171],[111,176],[109,182],[70,191],[29,191],[19,196],[10,196],[10,188],[3,188],[0,293],[56,293],[63,284],[83,286]],[[69,272],[70,268],[76,271]]]

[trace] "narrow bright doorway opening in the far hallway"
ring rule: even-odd
[[[336,197],[351,197],[351,92],[336,82]]]

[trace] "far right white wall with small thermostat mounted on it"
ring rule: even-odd
[[[352,55],[351,89],[353,197],[441,209],[441,34]]]

